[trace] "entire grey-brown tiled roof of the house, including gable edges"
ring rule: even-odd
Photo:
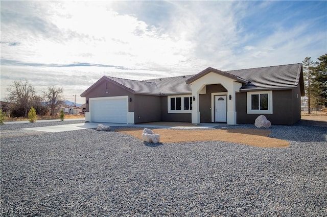
[[[220,71],[209,67],[196,75],[151,79],[145,81],[104,76],[94,85],[85,90],[81,95],[84,95],[103,79],[108,79],[131,92],[139,94],[190,94],[192,93],[192,85],[188,83],[192,83],[201,76],[206,75],[209,71],[213,71],[243,83],[243,86],[240,89],[241,91],[295,88],[300,83],[301,92],[304,94],[302,87],[303,78],[301,75],[302,64],[297,63],[231,71]]]

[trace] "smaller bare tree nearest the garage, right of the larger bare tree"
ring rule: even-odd
[[[43,90],[43,98],[46,105],[51,109],[50,115],[55,115],[55,110],[58,106],[63,104],[63,88],[49,86],[45,91]]]

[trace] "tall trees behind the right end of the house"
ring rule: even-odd
[[[327,107],[327,54],[314,62],[311,57],[302,61],[305,92],[308,97],[308,113],[311,107]]]

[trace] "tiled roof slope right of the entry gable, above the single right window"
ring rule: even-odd
[[[301,63],[262,68],[226,71],[243,78],[249,83],[241,90],[284,89],[297,87],[300,81]]]

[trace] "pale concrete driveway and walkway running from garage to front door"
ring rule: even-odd
[[[58,121],[58,120],[56,120]],[[46,126],[46,127],[32,127],[32,128],[22,128],[22,130],[31,131],[42,131],[49,133],[73,131],[73,130],[84,130],[97,128],[99,124],[103,124],[110,127],[143,127],[143,128],[167,128],[167,129],[209,129],[219,126],[221,124],[217,123],[203,123],[195,126],[164,126],[164,125],[147,125],[147,124],[113,124],[113,123],[79,123],[79,124],[66,124],[66,125],[56,125],[56,126]],[[159,123],[158,123],[159,124]],[[225,124],[224,124],[225,125]]]

